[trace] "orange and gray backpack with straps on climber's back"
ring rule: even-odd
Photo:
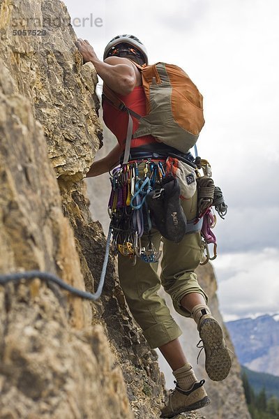
[[[188,152],[197,142],[199,132],[204,126],[202,94],[178,66],[163,62],[144,67],[135,65],[142,73],[146,116],[141,117],[127,108],[107,86],[104,85],[103,89],[103,97],[115,108],[124,110],[129,115],[123,163],[128,162],[132,138],[142,135],[151,134],[158,142],[164,142],[180,152]],[[131,115],[139,119],[139,126],[133,135]]]

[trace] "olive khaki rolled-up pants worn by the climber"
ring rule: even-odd
[[[197,212],[197,192],[193,198],[181,201],[187,220],[195,219]],[[161,235],[151,230],[152,242],[156,250],[160,247]],[[148,244],[148,236],[142,236],[142,246]],[[181,307],[181,299],[189,293],[199,293],[208,300],[199,286],[195,269],[202,256],[200,233],[190,233],[179,243],[163,238],[163,258],[161,274],[157,274],[158,263],[146,263],[137,258],[133,266],[130,258],[119,255],[119,279],[128,307],[135,321],[142,328],[151,348],[158,348],[181,335],[181,329],[172,318],[165,300],[158,295],[160,286],[172,297],[174,309],[185,317],[190,312]]]

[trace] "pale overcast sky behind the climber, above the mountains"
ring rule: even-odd
[[[223,318],[279,312],[278,0],[64,3],[100,59],[111,38],[134,34],[150,63],[181,66],[197,84],[206,120],[198,153],[229,206],[213,231]]]

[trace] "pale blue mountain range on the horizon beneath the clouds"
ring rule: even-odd
[[[241,365],[279,376],[279,314],[226,323]]]

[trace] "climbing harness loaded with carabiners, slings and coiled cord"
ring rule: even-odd
[[[197,150],[195,152],[197,154]],[[193,196],[197,184],[197,218],[186,223],[183,234],[201,231],[204,248],[201,265],[204,265],[217,257],[217,242],[212,232],[216,225],[213,207],[220,217],[224,218],[227,205],[224,202],[223,193],[218,186],[214,185],[211,166],[207,160],[196,156],[195,161],[188,166],[189,162],[186,160],[183,164],[187,167],[183,168],[181,161],[176,157],[168,156],[164,160],[144,159],[142,156],[141,159],[130,160],[114,168],[110,179],[112,191],[108,203],[112,249],[123,256],[128,256],[133,265],[137,258],[141,258],[146,263],[158,261],[161,252],[152,242],[151,228],[157,228],[164,237],[172,240],[168,235],[164,235],[164,221],[160,223],[160,228],[158,219],[164,220],[162,207],[165,202],[167,182],[171,178],[180,176],[180,180],[186,179],[187,193],[190,194],[186,197],[181,195],[181,199]],[[141,241],[144,234],[148,237],[146,247],[142,246]],[[212,255],[209,246],[213,247]]]

